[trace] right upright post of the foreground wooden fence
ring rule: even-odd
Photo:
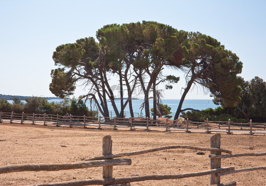
[[[221,134],[217,133],[211,137],[211,148],[221,148]],[[221,155],[221,152],[211,151],[210,154]],[[211,169],[221,168],[221,158],[211,158]],[[211,174],[210,184],[220,184],[220,176]]]

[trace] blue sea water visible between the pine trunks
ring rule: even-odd
[[[61,99],[50,99],[48,101],[49,102],[52,102],[52,101],[60,102],[62,100]],[[163,104],[166,104],[167,106],[171,107],[170,111],[172,112],[172,114],[170,114],[170,115],[174,115],[176,110],[177,110],[180,99],[163,99],[161,101]],[[8,102],[11,104],[13,103],[12,100],[8,100]],[[25,101],[23,101],[23,102],[26,103]],[[125,100],[124,100],[124,102],[125,102]],[[141,108],[140,108],[143,102],[144,102],[144,100],[132,100],[132,107],[133,107],[133,112],[134,112],[135,117],[137,117],[137,116],[140,117],[143,115],[145,116],[145,110],[143,109],[141,111]],[[110,117],[114,117],[115,116],[114,111],[113,111],[114,109],[112,107],[110,100],[107,100],[107,103],[108,103],[108,109],[110,112]],[[120,111],[120,100],[115,100],[115,103],[117,105],[118,110]],[[90,104],[88,102],[86,103],[86,105],[90,109]],[[149,106],[150,106],[150,109],[153,108],[152,100],[150,100]],[[204,110],[204,109],[208,109],[208,108],[215,109],[218,106],[220,106],[220,105],[215,105],[212,102],[212,99],[185,99],[183,102],[183,105],[182,105],[182,109],[193,108],[193,109],[197,109],[197,110]],[[97,110],[97,108],[94,108],[94,109],[92,108],[92,110]],[[130,117],[128,104],[124,110],[124,114],[125,114],[125,117]],[[99,115],[101,115],[101,114],[99,113]]]

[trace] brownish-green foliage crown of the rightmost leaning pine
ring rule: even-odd
[[[192,70],[191,78],[206,87],[212,96],[221,98],[224,106],[236,106],[241,95],[241,81],[237,74],[242,71],[238,56],[225,50],[217,39],[210,36],[191,33],[190,39],[188,67]]]

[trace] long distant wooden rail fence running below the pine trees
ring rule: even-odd
[[[121,127],[127,127],[130,130],[162,130],[166,132],[183,130],[190,132],[190,130],[206,131],[210,132],[226,132],[232,134],[234,131],[241,131],[242,133],[254,134],[254,133],[266,133],[266,123],[235,123],[228,119],[228,122],[221,121],[208,121],[204,122],[192,122],[188,119],[183,121],[180,126],[172,119],[168,118],[107,118],[107,117],[87,117],[87,116],[72,116],[65,117],[60,115],[52,114],[17,114],[17,113],[3,113],[0,112],[0,122],[19,122],[31,123],[31,124],[43,124],[43,125],[54,125],[54,126],[69,126],[69,127],[89,127],[97,126],[98,129],[112,128],[117,130]]]

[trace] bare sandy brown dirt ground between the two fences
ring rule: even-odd
[[[67,163],[82,161],[102,153],[102,138],[111,135],[113,154],[144,150],[167,145],[210,147],[214,133],[185,133],[165,131],[129,131],[93,128],[68,128],[30,124],[0,123],[0,166],[26,163]],[[233,153],[265,152],[265,134],[221,134],[221,148]],[[209,151],[171,149],[130,157],[132,164],[114,166],[113,177],[179,174],[210,169]],[[224,154],[224,153],[222,153]],[[259,167],[266,165],[266,156],[244,156],[221,160],[221,167]],[[0,174],[0,185],[29,185],[83,179],[101,179],[102,167],[62,171],[14,172]],[[242,172],[221,176],[221,183],[235,180],[237,185],[266,185],[266,171]],[[176,180],[150,180],[131,185],[209,185],[210,176]]]

